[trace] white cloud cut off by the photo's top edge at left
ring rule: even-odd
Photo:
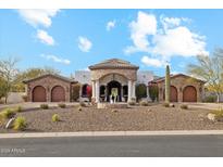
[[[22,18],[29,25],[37,27],[39,25],[44,27],[50,27],[52,24],[51,18],[57,15],[59,10],[46,10],[46,9],[35,9],[35,10],[18,10]]]

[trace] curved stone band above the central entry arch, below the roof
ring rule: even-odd
[[[137,80],[136,69],[94,69],[91,72],[91,80],[98,80],[103,76],[110,74],[119,74],[126,77],[129,80]]]

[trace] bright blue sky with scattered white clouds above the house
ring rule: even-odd
[[[222,21],[223,10],[0,10],[0,57],[66,76],[112,57],[186,73],[196,54],[223,47]]]

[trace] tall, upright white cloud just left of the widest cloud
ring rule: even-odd
[[[125,53],[133,53],[137,51],[148,51],[149,35],[156,35],[157,33],[157,20],[153,14],[147,14],[145,12],[138,12],[137,21],[133,21],[129,24],[131,39],[134,46],[127,47]]]

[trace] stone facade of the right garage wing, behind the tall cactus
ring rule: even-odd
[[[163,93],[165,89],[164,85],[165,85],[164,80],[158,82],[159,101],[164,101],[163,99]],[[186,88],[187,86],[195,87],[197,91],[197,102],[202,101],[203,84],[198,80],[195,80],[186,76],[177,76],[177,77],[171,78],[171,86],[174,86],[177,89],[178,102],[183,102],[183,91],[184,91],[184,88]]]

